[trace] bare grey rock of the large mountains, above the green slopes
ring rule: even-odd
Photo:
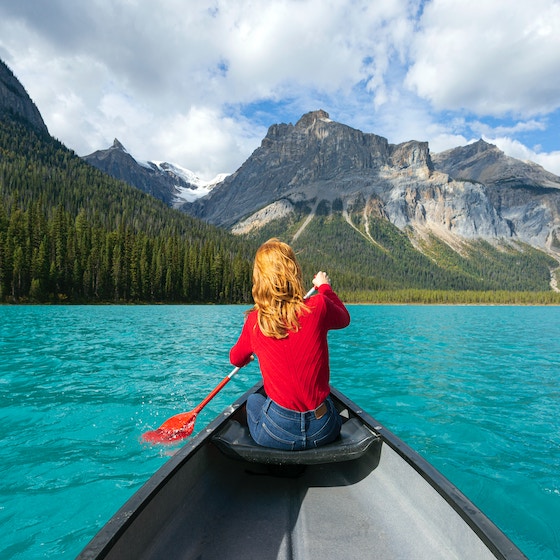
[[[392,145],[325,111],[271,126],[236,173],[182,209],[241,232],[298,202],[347,211],[357,199],[366,213],[446,242],[511,239],[551,249],[560,239],[560,178],[540,166],[483,141],[432,157],[425,142]]]

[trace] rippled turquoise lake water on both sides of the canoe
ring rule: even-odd
[[[532,560],[560,558],[560,309],[349,306],[332,383]],[[74,558],[231,371],[240,306],[0,306],[0,558]],[[250,364],[202,429],[259,377]]]

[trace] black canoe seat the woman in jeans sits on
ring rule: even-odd
[[[212,437],[212,442],[227,456],[267,465],[316,465],[351,461],[364,455],[379,440],[379,436],[357,418],[342,424],[340,437],[332,443],[304,451],[283,451],[258,445],[249,434],[249,428],[235,420],[228,422]]]

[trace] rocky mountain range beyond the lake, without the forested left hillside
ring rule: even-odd
[[[23,86],[0,72],[0,116],[48,136]],[[431,154],[426,142],[390,144],[317,110],[272,125],[212,183],[138,161],[118,140],[82,161],[248,246],[279,236],[306,274],[328,267],[348,293],[557,289],[560,178],[482,140]]]

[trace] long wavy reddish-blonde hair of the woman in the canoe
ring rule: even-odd
[[[286,338],[299,330],[299,316],[309,308],[303,301],[303,275],[293,249],[273,237],[255,255],[253,300],[265,336]]]

